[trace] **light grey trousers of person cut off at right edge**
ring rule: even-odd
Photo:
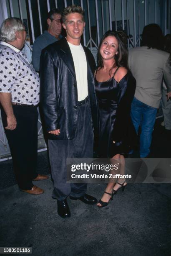
[[[167,90],[162,89],[162,110],[164,115],[164,126],[167,130],[171,130],[171,100],[167,100]]]

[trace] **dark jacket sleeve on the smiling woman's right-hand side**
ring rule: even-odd
[[[113,125],[113,141],[119,146],[126,134],[128,120],[130,118],[131,102],[136,90],[136,80],[130,72],[126,74],[118,84],[118,108],[116,110],[116,120]]]

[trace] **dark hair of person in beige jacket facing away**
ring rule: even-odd
[[[142,46],[147,46],[148,49],[163,50],[164,36],[158,24],[152,23],[143,28]]]

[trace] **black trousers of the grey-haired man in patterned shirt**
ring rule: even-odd
[[[34,106],[13,105],[17,120],[15,130],[6,130],[6,114],[1,109],[3,126],[13,159],[14,172],[20,189],[33,187],[38,152],[38,111]]]

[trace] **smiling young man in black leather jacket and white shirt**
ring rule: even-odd
[[[66,158],[93,157],[93,128],[96,131],[98,126],[96,64],[91,51],[80,44],[83,14],[80,6],[64,9],[67,36],[46,47],[40,61],[40,102],[48,132],[52,197],[57,199],[58,214],[63,218],[70,217],[68,195],[86,204],[97,202],[85,194],[86,184],[66,183]]]

